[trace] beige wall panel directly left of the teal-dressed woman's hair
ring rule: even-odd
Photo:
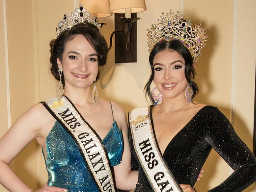
[[[45,100],[56,96],[57,81],[50,72],[50,46],[52,39],[56,39],[56,27],[63,15],[73,10],[72,0],[36,0],[35,13],[37,14],[37,41],[38,41],[38,78],[39,100]],[[37,151],[38,182],[39,186],[48,180],[45,168],[45,160],[41,149]]]

